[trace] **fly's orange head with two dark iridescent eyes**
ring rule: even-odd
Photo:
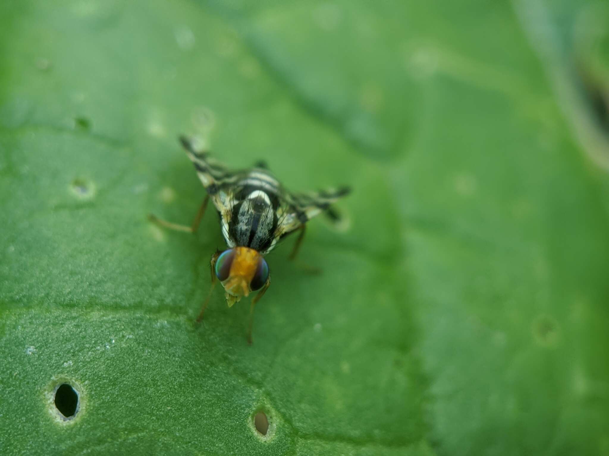
[[[234,247],[216,260],[216,276],[227,291],[228,305],[261,288],[269,277],[269,266],[262,255],[249,247]]]

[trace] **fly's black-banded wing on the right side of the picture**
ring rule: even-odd
[[[322,212],[328,213],[329,218],[333,221],[339,221],[339,215],[331,208],[331,204],[350,192],[350,188],[340,187],[320,192],[286,193],[283,198],[284,204],[278,210],[275,237],[281,238],[294,232]]]

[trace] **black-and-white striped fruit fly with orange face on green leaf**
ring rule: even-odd
[[[224,287],[229,307],[258,291],[250,305],[247,340],[252,344],[254,307],[270,285],[269,265],[264,256],[287,235],[300,232],[289,257],[294,260],[305,236],[306,223],[322,212],[334,222],[339,221],[338,213],[330,205],[348,195],[350,189],[340,187],[321,192],[290,193],[264,162],[258,162],[252,168],[231,171],[210,157],[207,151],[197,150],[187,137],[180,137],[180,142],[207,195],[191,226],[167,222],[152,214],[149,219],[170,229],[194,233],[211,199],[220,216],[227,249],[218,250],[211,256],[212,285],[197,322],[203,319],[216,279]]]

